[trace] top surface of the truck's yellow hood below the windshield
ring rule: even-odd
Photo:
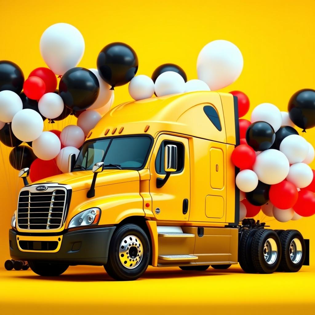
[[[89,189],[93,179],[92,171],[65,173],[38,180],[32,184],[58,183],[70,185],[72,191]],[[130,169],[104,169],[97,175],[95,187],[139,180],[139,172]]]

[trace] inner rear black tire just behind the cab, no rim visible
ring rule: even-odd
[[[241,236],[238,248],[238,262],[244,272],[256,273],[257,270],[252,261],[252,240],[258,229],[245,230]]]

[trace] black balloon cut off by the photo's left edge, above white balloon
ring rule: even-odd
[[[10,90],[20,94],[23,89],[24,74],[21,68],[12,61],[0,61],[0,91]]]

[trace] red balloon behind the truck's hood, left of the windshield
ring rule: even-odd
[[[61,174],[61,171],[58,169],[55,159],[44,161],[37,158],[31,163],[30,179],[32,182],[59,174]]]

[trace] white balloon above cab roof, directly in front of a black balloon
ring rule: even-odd
[[[154,89],[157,96],[184,93],[185,81],[180,74],[166,71],[157,77]]]

